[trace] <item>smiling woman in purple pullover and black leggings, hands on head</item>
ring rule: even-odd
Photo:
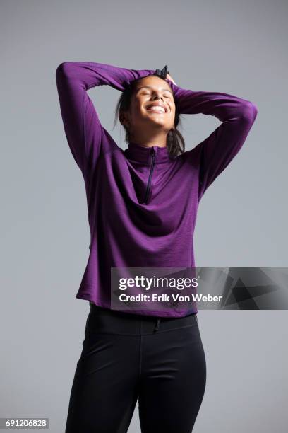
[[[90,254],[76,294],[90,302],[90,313],[66,433],[127,432],[137,398],[141,432],[190,433],[206,381],[196,304],[112,308],[111,271],[195,266],[198,203],[244,144],[256,105],[227,93],[181,88],[167,66],[64,62],[56,83],[90,224]],[[87,93],[104,84],[122,92],[117,110],[125,150],[102,127]],[[185,151],[179,115],[197,113],[222,124]]]

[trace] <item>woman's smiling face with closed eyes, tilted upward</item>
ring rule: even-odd
[[[127,112],[119,116],[131,137],[142,133],[147,139],[167,134],[174,128],[175,103],[172,88],[157,76],[146,76],[136,83]]]

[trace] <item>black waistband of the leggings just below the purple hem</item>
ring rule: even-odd
[[[123,311],[109,310],[90,303],[86,332],[112,333],[118,335],[144,335],[198,325],[197,313],[167,318],[142,316]]]

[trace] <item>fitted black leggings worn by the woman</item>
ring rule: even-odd
[[[90,303],[65,433],[191,433],[206,362],[196,314],[138,316]]]

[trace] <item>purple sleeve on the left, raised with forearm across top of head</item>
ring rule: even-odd
[[[124,91],[131,81],[155,70],[136,70],[95,62],[63,62],[56,69],[56,86],[68,146],[85,175],[95,167],[100,154],[118,147],[102,127],[87,90],[109,85]]]

